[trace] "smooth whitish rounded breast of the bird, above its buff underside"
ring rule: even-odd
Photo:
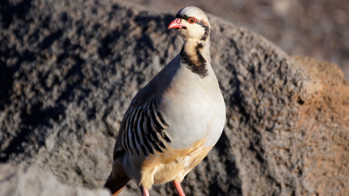
[[[218,86],[217,86],[218,87]],[[187,91],[187,89],[185,89]],[[207,137],[205,146],[213,146],[222,134],[225,122],[225,104],[220,89],[213,92],[192,88],[163,98],[161,111],[169,129],[169,145],[174,149],[186,149]],[[183,90],[184,91],[184,90]]]

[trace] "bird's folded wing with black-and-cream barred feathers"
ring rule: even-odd
[[[159,100],[157,99],[164,86],[168,85],[176,73],[179,63],[180,55],[178,54],[133,98],[121,121],[113,160],[125,152],[131,155],[138,155],[141,152],[149,154],[151,150],[148,144],[153,146],[153,151],[161,151],[164,144],[162,141],[169,142],[164,134],[168,125],[158,110],[157,101]]]

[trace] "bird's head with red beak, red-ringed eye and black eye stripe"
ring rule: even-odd
[[[185,7],[176,15],[167,29],[177,29],[184,40],[198,39],[205,41],[209,39],[211,25],[208,18],[198,7]]]

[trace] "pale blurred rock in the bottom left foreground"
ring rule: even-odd
[[[110,191],[69,187],[59,182],[50,172],[31,166],[0,164],[0,195],[3,196],[109,196]]]

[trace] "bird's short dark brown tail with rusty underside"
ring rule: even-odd
[[[113,172],[110,173],[107,181],[104,184],[104,188],[110,189],[112,196],[116,196],[126,186],[130,179],[125,175],[118,175]]]

